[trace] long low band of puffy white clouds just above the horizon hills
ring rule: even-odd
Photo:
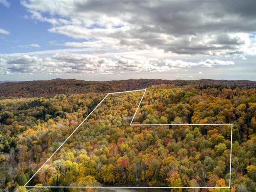
[[[104,54],[102,54],[104,55]],[[108,56],[108,55],[106,55]],[[185,62],[182,60],[159,60],[140,55],[99,57],[91,54],[58,53],[50,57],[0,54],[0,65],[10,73],[75,73],[117,74],[129,72],[170,72],[184,67],[213,67],[230,65],[232,61],[205,60]],[[200,72],[199,72],[200,73]],[[180,76],[180,73],[177,73]]]

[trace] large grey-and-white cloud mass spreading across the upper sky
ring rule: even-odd
[[[50,23],[49,32],[80,40],[62,43],[64,46],[190,55],[256,54],[250,38],[255,16],[241,14],[242,6],[228,1],[119,1],[112,6],[90,0],[22,0],[21,4],[27,8],[28,18]]]

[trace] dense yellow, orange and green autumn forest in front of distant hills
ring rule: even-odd
[[[142,94],[108,96],[28,185],[228,186],[231,126],[130,126]],[[26,191],[23,185],[105,95],[6,95],[9,98],[0,100],[2,191]],[[168,191],[256,191],[255,88],[190,83],[150,86],[133,123],[233,124],[231,189]],[[85,190],[97,191],[81,191]]]

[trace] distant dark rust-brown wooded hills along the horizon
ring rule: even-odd
[[[45,81],[4,82],[0,84],[0,98],[53,96],[56,94],[108,93],[147,88],[158,84],[218,84],[256,88],[255,81],[249,80],[161,80],[129,79],[115,81],[84,81],[76,79],[53,79]]]

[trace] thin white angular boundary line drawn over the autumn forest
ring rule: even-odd
[[[94,110],[96,110],[96,108],[104,101],[104,99],[110,95],[110,94],[118,94],[118,93],[128,93],[128,92],[136,92],[136,91],[144,91],[142,98],[140,99],[140,103],[138,105],[138,107],[136,108],[136,111],[134,113],[134,116],[132,118],[132,121],[130,123],[130,126],[164,126],[164,125],[174,125],[174,126],[178,126],[178,125],[231,125],[231,144],[230,144],[230,173],[229,173],[229,187],[124,187],[124,186],[120,186],[120,187],[116,187],[116,186],[26,186],[30,180],[32,180],[32,178],[34,178],[34,176],[42,169],[42,167],[50,160],[50,158],[52,158],[52,156],[54,156],[54,154],[64,145],[64,143],[74,134],[74,132],[83,124],[83,122],[94,112]],[[28,182],[26,182],[26,184],[24,185],[25,188],[230,188],[231,187],[231,156],[232,156],[232,131],[233,131],[233,124],[132,124],[134,117],[140,107],[140,104],[144,98],[144,95],[146,93],[146,89],[140,89],[140,90],[132,90],[132,91],[121,91],[121,92],[112,92],[112,93],[108,93],[101,101],[100,103],[90,112],[90,114],[88,114],[88,116],[86,116],[86,118],[78,125],[78,127],[70,134],[70,136],[68,136],[68,138],[66,138],[66,140],[58,147],[58,149],[46,160],[46,162],[44,162],[44,164],[37,170],[37,172],[28,180]]]

